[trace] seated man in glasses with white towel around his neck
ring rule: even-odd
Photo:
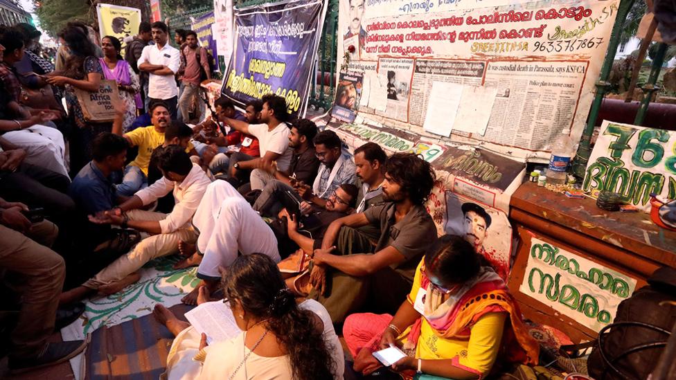
[[[292,194],[301,202],[310,201],[323,207],[328,197],[343,183],[355,183],[355,164],[343,156],[341,141],[333,131],[323,131],[314,136],[314,149],[319,158],[319,173],[312,187],[302,181],[294,181],[293,187],[282,181],[268,183],[260,197],[253,204],[253,209],[260,215],[275,215],[280,209],[279,199],[284,194]],[[253,179],[254,175],[251,174]]]

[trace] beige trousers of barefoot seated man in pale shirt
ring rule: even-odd
[[[130,220],[160,221],[165,219],[167,214],[143,210],[130,210],[127,211],[127,216]],[[127,275],[141,269],[141,267],[150,260],[178,253],[179,241],[194,243],[196,239],[197,235],[195,235],[195,230],[193,230],[192,227],[181,228],[172,233],[161,233],[146,237],[141,240],[139,244],[136,244],[136,246],[132,248],[132,251],[118,257],[117,260],[106,266],[103,271],[98,272],[94,278],[87,280],[87,282],[84,282],[82,285],[89,289],[98,289],[103,285],[122,280],[127,277]]]

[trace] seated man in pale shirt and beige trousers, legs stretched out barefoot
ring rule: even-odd
[[[161,151],[156,157],[157,166],[163,174],[161,179],[136,192],[120,206],[98,215],[89,215],[93,223],[130,227],[152,236],[141,240],[132,251],[118,257],[82,286],[63,293],[63,304],[80,300],[96,290],[100,295],[117,293],[139,280],[140,275],[136,271],[145,263],[178,253],[179,242],[193,243],[197,239],[191,221],[211,180],[199,165],[190,161],[183,147],[170,145],[159,149]],[[176,203],[170,214],[139,210],[172,190]]]

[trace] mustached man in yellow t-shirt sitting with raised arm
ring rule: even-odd
[[[131,197],[137,191],[148,187],[150,156],[155,148],[164,143],[164,133],[171,123],[169,109],[163,102],[154,102],[150,105],[150,116],[152,125],[136,128],[123,135],[130,147],[139,147],[139,154],[127,165],[122,183],[117,186],[117,194],[123,197]],[[186,152],[197,154],[193,150],[192,143],[188,143]]]

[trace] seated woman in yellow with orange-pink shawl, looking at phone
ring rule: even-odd
[[[343,334],[355,370],[364,374],[382,367],[372,352],[390,345],[407,354],[393,370],[429,379],[481,379],[498,367],[498,357],[533,364],[539,355],[505,282],[452,235],[429,247],[394,317],[353,314]]]

